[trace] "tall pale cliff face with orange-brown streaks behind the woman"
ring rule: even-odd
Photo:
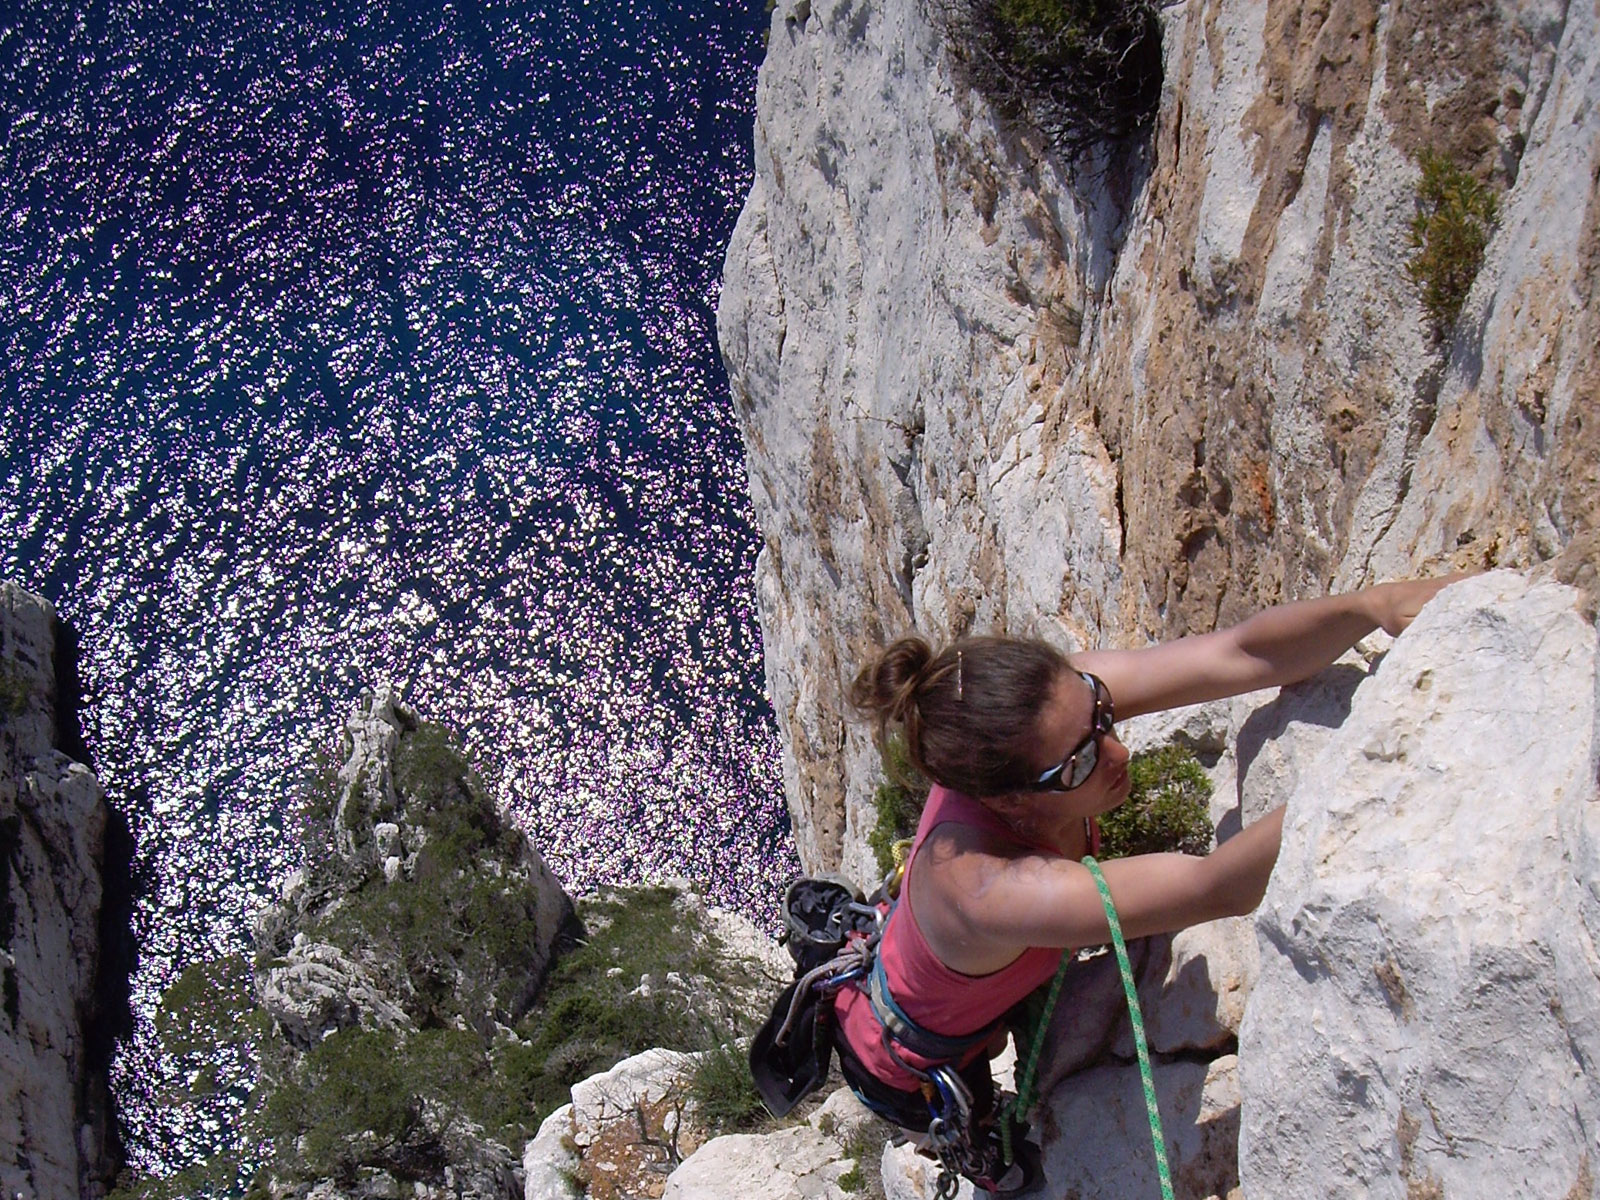
[[[918,627],[1136,645],[1446,565],[1595,586],[1600,46],[1563,0],[1186,0],[1069,170],[915,0],[779,0],[718,333],[802,861],[867,878],[842,688]],[[1435,150],[1501,219],[1435,339]]]

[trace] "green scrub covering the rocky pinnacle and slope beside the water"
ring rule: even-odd
[[[382,822],[400,822],[416,846],[402,872],[384,870]],[[306,787],[301,827],[306,869],[294,899],[258,928],[256,987],[240,955],[200,962],[158,1016],[163,1050],[194,1066],[195,1096],[227,1086],[213,1066],[219,1048],[253,1058],[245,1149],[168,1179],[130,1176],[115,1200],[426,1181],[462,1160],[509,1170],[578,1080],[651,1046],[709,1050],[738,1032],[696,1003],[696,987],[726,990],[718,974],[730,968],[701,909],[670,888],[581,904],[544,971],[531,949],[538,899],[518,872],[523,835],[438,726],[406,730],[392,770],[363,770],[346,787],[325,763]],[[360,1008],[294,1045],[256,989],[309,944],[358,965],[394,1008]],[[739,1078],[707,1058],[691,1096],[736,1128],[758,1101],[742,1058],[722,1056],[738,1059]]]

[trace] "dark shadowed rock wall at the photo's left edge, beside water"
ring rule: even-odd
[[[48,603],[0,582],[0,1195],[104,1195],[122,1147],[101,1034],[110,813],[59,683]],[[123,981],[125,982],[125,981]]]

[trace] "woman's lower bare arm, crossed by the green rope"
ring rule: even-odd
[[[1123,936],[1174,933],[1253,910],[1282,835],[1283,808],[1275,808],[1205,858],[1136,854],[1102,862]],[[1088,867],[1070,859],[1018,859],[965,907],[974,934],[1018,949],[1110,941],[1099,890]]]

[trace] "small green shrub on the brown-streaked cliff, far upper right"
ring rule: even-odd
[[[1411,261],[1406,274],[1422,288],[1422,307],[1438,336],[1454,328],[1483,251],[1499,219],[1494,194],[1443,155],[1418,157],[1422,178],[1411,218]]]

